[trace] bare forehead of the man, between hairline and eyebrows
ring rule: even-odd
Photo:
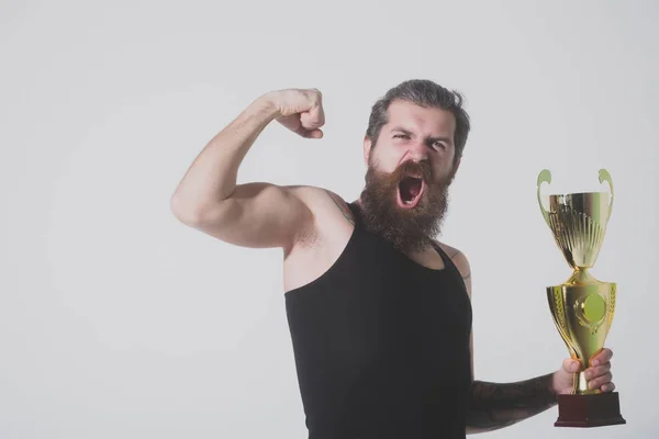
[[[384,128],[402,126],[432,135],[451,136],[456,130],[456,117],[448,111],[424,108],[412,102],[395,100],[389,105],[389,122]]]

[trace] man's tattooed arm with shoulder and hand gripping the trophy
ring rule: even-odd
[[[465,255],[453,247],[443,245],[460,271],[467,293],[471,300],[471,268]],[[473,376],[473,335],[470,339],[471,375]],[[593,357],[585,372],[590,389],[612,392],[611,349],[603,349]],[[552,373],[515,383],[492,383],[473,380],[471,383],[467,434],[492,431],[512,426],[521,420],[540,414],[557,404],[559,394],[572,391],[574,373],[580,362],[566,359],[562,367]]]

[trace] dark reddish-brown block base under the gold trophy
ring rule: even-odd
[[[603,427],[627,424],[621,415],[617,392],[595,395],[558,395],[555,427]]]

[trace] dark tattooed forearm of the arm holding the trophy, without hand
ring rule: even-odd
[[[474,381],[467,415],[467,432],[507,427],[545,412],[556,403],[552,373],[517,383]]]

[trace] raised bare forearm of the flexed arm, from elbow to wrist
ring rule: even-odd
[[[199,212],[225,200],[236,187],[238,167],[247,151],[278,116],[268,95],[260,97],[217,133],[194,159],[172,195],[178,210]]]

